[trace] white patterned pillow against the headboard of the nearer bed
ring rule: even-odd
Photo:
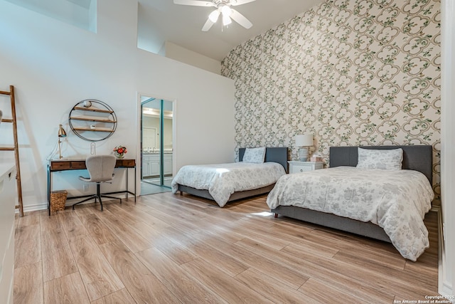
[[[370,150],[358,148],[358,168],[401,170],[402,160],[402,148],[392,150]]]

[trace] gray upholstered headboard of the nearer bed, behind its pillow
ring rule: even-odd
[[[330,147],[330,167],[357,165],[358,147]],[[390,150],[402,148],[402,169],[410,169],[425,174],[430,184],[433,181],[433,147],[430,145],[415,146],[361,146],[363,149]]]

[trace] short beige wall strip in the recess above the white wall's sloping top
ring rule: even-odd
[[[187,48],[176,45],[175,43],[166,41],[164,43],[163,53],[163,55],[167,58],[187,63],[189,65],[202,68],[203,70],[208,70],[218,75],[221,73],[220,61],[215,61],[215,59],[208,58],[207,56],[200,55],[200,53],[190,51]]]

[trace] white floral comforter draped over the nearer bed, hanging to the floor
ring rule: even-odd
[[[336,167],[281,177],[267,204],[371,221],[385,230],[403,257],[416,261],[429,247],[423,219],[433,198],[427,177],[417,171]]]

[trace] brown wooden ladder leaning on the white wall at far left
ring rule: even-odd
[[[14,86],[9,86],[9,92],[1,91],[0,95],[9,95],[11,99],[11,119],[1,119],[1,122],[11,122],[13,124],[13,147],[0,147],[0,151],[14,151],[14,158],[16,159],[16,184],[17,184],[17,196],[19,204],[16,205],[16,209],[19,209],[19,216],[23,216],[23,204],[22,204],[22,186],[21,186],[21,166],[19,164],[19,147],[17,142],[17,122],[16,122],[16,102],[14,100]]]

